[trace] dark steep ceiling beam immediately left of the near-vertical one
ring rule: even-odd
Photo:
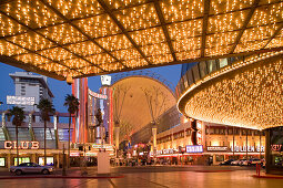
[[[170,39],[170,35],[169,35],[169,32],[168,32],[168,29],[165,27],[165,19],[163,17],[163,13],[162,13],[162,10],[160,8],[160,4],[159,4],[159,0],[154,0],[154,8],[156,10],[156,13],[159,15],[159,21],[161,23],[161,27],[162,27],[162,30],[163,30],[163,33],[165,35],[165,39],[166,39],[166,42],[168,42],[168,46],[170,49],[170,52],[173,56],[173,60],[176,61],[176,56],[175,56],[175,52],[174,52],[174,49],[173,49],[173,45],[172,45],[172,41]]]

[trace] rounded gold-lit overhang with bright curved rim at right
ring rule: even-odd
[[[206,74],[195,82],[182,77],[179,111],[204,122],[260,130],[283,126],[282,58],[283,51],[246,56],[213,72],[202,70]]]

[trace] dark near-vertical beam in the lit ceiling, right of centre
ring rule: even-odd
[[[205,41],[206,41],[206,30],[208,30],[208,21],[209,21],[209,13],[210,13],[210,0],[204,1],[204,15],[202,22],[202,44],[201,44],[201,58],[205,54]]]

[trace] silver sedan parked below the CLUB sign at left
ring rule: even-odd
[[[22,174],[29,174],[29,173],[49,175],[53,173],[53,167],[40,166],[36,163],[23,163],[23,164],[20,164],[19,166],[11,166],[10,173],[17,176],[20,176]]]

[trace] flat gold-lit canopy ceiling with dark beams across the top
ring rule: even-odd
[[[54,79],[281,50],[281,0],[1,0],[0,61]]]

